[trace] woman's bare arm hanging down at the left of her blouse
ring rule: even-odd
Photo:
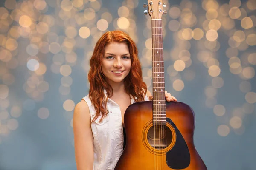
[[[90,111],[84,100],[74,109],[73,130],[77,170],[93,170],[93,133]]]

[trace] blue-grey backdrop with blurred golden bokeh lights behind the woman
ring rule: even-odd
[[[0,0],[0,170],[75,170],[73,109],[108,30],[137,43],[152,92],[146,0]],[[163,0],[166,90],[190,105],[209,170],[256,169],[256,0]]]

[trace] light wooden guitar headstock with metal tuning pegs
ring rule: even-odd
[[[148,11],[145,10],[144,14],[149,14],[152,19],[161,19],[163,14],[166,14],[167,11],[163,10],[163,7],[166,7],[166,4],[162,0],[148,0],[148,5],[144,3],[143,7],[148,6]]]

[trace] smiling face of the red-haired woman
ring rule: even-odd
[[[111,42],[105,47],[102,72],[108,83],[123,82],[131,69],[131,55],[126,43]]]

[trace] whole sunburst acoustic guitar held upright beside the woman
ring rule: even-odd
[[[195,114],[165,99],[162,0],[148,0],[152,22],[153,100],[130,105],[124,115],[126,146],[115,170],[207,170],[193,142]]]

